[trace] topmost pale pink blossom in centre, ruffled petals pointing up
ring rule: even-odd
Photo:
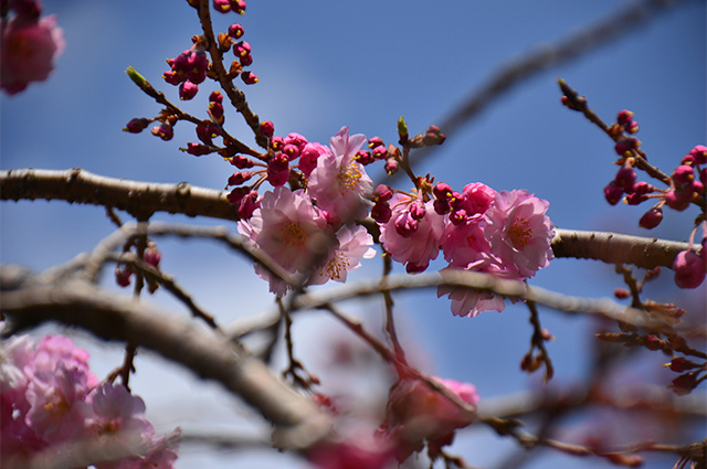
[[[309,175],[309,194],[335,220],[362,220],[367,215],[373,181],[354,159],[365,142],[365,135],[349,137],[349,128],[341,127],[329,140],[331,152],[317,159],[317,167]]]

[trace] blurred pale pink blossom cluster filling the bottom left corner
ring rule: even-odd
[[[179,433],[158,437],[143,399],[98,382],[88,353],[68,338],[46,335],[34,344],[23,335],[0,345],[2,467],[29,467],[42,454],[70,458],[81,445],[97,459],[74,461],[80,467],[169,469]]]

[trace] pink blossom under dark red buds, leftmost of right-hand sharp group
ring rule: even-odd
[[[410,221],[409,206],[414,200],[410,195],[395,193],[390,200],[392,215],[380,227],[383,248],[394,260],[405,264],[409,273],[423,271],[431,260],[436,259],[445,225],[445,217],[434,211],[433,201],[428,201],[422,220],[411,218],[416,222],[414,232],[408,236],[401,235],[395,223],[403,217]]]

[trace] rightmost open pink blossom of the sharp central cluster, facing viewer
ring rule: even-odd
[[[505,270],[528,278],[550,264],[555,230],[546,215],[549,205],[524,190],[496,195],[485,214],[484,234]]]

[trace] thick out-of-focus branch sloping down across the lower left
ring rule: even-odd
[[[273,434],[278,447],[307,448],[330,431],[329,417],[273,376],[260,360],[173,312],[85,280],[46,284],[18,266],[0,267],[0,290],[8,319],[3,337],[48,321],[78,327],[104,340],[152,350],[202,379],[221,383],[278,427]]]

